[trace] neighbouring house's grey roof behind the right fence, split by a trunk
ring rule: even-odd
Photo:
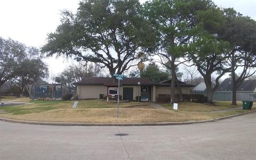
[[[232,79],[226,78],[216,91],[232,91]],[[237,92],[253,92],[256,88],[256,80],[243,81]]]

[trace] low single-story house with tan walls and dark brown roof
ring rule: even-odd
[[[111,77],[84,77],[75,84],[79,99],[98,99],[100,94],[117,95],[118,81]],[[189,94],[194,86],[183,82],[180,85],[183,94]],[[155,102],[158,94],[170,94],[170,88],[171,79],[153,83],[148,78],[124,78],[120,81],[119,94],[123,100],[135,100],[140,95],[141,100]],[[178,93],[177,89],[175,93]]]

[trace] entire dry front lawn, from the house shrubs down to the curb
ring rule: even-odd
[[[75,109],[72,108],[74,101],[30,102],[26,105],[1,107],[0,110],[8,113],[2,113],[0,117],[46,122],[180,122],[211,119],[247,111],[213,111],[230,108],[230,102],[219,102],[217,106],[179,103],[178,111],[158,110],[148,106],[147,103],[140,103],[138,106],[137,102],[127,102],[120,103],[117,119],[117,104],[114,102],[80,100]]]

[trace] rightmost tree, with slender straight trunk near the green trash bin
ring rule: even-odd
[[[236,90],[244,79],[254,75],[256,70],[256,21],[243,17],[234,9],[224,9],[227,23],[221,30],[221,38],[230,43],[229,66],[231,68],[232,105],[236,103]],[[239,70],[239,76],[237,70]]]

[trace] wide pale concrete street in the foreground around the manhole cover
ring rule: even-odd
[[[118,133],[129,135],[117,136]],[[0,122],[0,159],[255,159],[256,113],[171,126]]]

